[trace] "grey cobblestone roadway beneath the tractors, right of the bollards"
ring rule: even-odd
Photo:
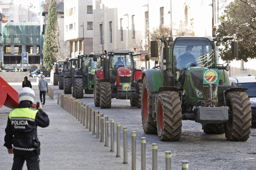
[[[52,86],[57,96],[58,86]],[[63,93],[63,90],[60,90]],[[207,135],[200,123],[183,121],[182,136],[176,142],[162,142],[157,135],[143,132],[141,110],[130,106],[129,100],[112,99],[111,109],[94,107],[93,95],[84,94],[80,101],[100,111],[109,120],[114,119],[127,126],[128,150],[131,152],[131,132],[136,131],[137,158],[140,160],[140,138],[146,137],[146,162],[152,165],[152,143],[158,144],[158,169],[165,169],[165,151],[172,152],[172,168],[181,169],[181,161],[189,161],[189,169],[255,169],[256,167],[256,129],[251,129],[250,138],[245,142],[232,142],[225,138],[225,134]],[[109,125],[110,128],[110,125]],[[116,129],[116,126],[115,126]],[[110,132],[110,129],[109,129]],[[123,136],[121,132],[121,142]],[[121,143],[122,146],[122,143]]]

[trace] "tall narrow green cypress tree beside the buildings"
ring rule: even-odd
[[[55,54],[58,53],[58,44],[56,41],[54,43],[53,40],[57,39],[57,35],[54,34],[57,32],[56,24],[57,23],[57,5],[55,0],[51,0],[50,6],[48,9],[48,22],[45,31],[44,37],[44,46],[43,46],[43,53],[44,53],[44,65],[47,70],[52,69],[52,62],[56,60]]]

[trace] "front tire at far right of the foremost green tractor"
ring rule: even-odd
[[[232,141],[246,141],[251,133],[252,110],[248,94],[231,91],[226,97],[232,118],[225,124],[225,137]]]

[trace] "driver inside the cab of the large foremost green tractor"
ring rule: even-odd
[[[190,54],[193,47],[194,47],[194,45],[188,45],[186,47],[186,53],[179,56],[179,58],[177,59],[177,68],[183,69],[183,68],[191,67],[190,65],[192,63],[197,65],[195,57],[192,54]],[[193,64],[193,66],[194,66],[194,64]]]

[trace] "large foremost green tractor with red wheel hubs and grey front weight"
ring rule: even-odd
[[[228,140],[246,141],[252,119],[247,88],[229,85],[229,65],[217,64],[215,51],[215,46],[233,38],[156,38],[162,42],[159,69],[142,74],[144,132],[157,133],[162,141],[178,141],[182,120],[192,120],[207,134],[225,133]],[[233,57],[237,48],[232,41]],[[151,41],[151,57],[158,57],[157,49],[157,41]]]

